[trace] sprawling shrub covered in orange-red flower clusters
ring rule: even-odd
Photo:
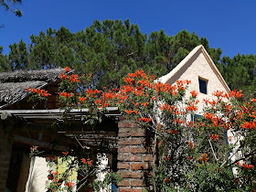
[[[90,84],[92,75],[79,78],[61,73],[59,78],[64,120],[71,109],[88,108],[81,121],[99,123],[106,107],[118,106],[130,121],[152,134],[155,191],[255,188],[256,100],[242,101],[241,91],[215,91],[215,99],[201,101],[205,108],[197,117],[197,91],[185,99],[189,80],[163,84],[137,70],[123,78],[120,89],[98,91]],[[39,97],[48,94],[39,92],[33,93]],[[84,163],[82,159],[80,163]],[[86,161],[85,169],[91,173],[88,167]]]

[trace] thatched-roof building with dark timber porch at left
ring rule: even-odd
[[[41,69],[15,71],[0,74],[0,191],[45,191],[48,186],[48,167],[46,156],[61,155],[80,144],[99,149],[99,143],[108,141],[112,154],[116,154],[119,112],[110,108],[101,127],[91,130],[83,126],[80,115],[88,110],[74,110],[75,122],[69,126],[52,127],[61,118],[57,102],[58,76],[64,69]],[[29,92],[25,89],[41,88],[51,95],[47,102],[35,105],[28,101]],[[69,133],[69,136],[68,136]],[[80,144],[72,138],[78,135]],[[29,158],[30,147],[38,146],[43,154]],[[101,152],[101,149],[98,150]],[[104,151],[106,154],[109,151]],[[85,150],[86,153],[86,150]]]

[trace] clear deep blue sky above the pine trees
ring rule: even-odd
[[[249,0],[23,0],[23,16],[0,7],[0,46],[38,35],[48,27],[68,27],[71,32],[91,26],[93,20],[129,18],[150,34],[165,30],[169,36],[180,30],[207,37],[209,46],[222,55],[256,54],[256,1]]]

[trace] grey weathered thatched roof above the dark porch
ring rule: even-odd
[[[17,70],[0,73],[0,109],[29,95],[27,88],[43,88],[58,80],[64,69]]]

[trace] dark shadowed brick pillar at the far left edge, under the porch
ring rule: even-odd
[[[6,133],[0,123],[0,191],[5,191],[10,158],[12,154],[13,137]]]

